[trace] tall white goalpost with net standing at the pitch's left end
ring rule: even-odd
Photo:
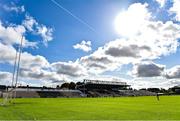
[[[21,37],[20,45],[16,50],[15,60],[14,60],[14,68],[13,68],[13,75],[12,75],[12,82],[11,82],[11,89],[6,89],[6,92],[3,92],[3,101],[1,105],[7,105],[11,102],[13,98],[16,98],[16,88],[17,82],[19,78],[19,68],[20,68],[20,60],[21,60],[21,53],[22,53],[22,45],[23,45],[23,35]]]

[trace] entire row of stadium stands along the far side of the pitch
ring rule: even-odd
[[[75,83],[74,83],[75,84]],[[69,85],[69,84],[68,84]],[[74,87],[73,87],[74,88]],[[0,85],[0,97],[6,97],[10,86]],[[119,97],[119,96],[151,96],[157,95],[151,90],[132,90],[130,85],[121,81],[88,80],[77,82],[75,88],[51,88],[19,86],[13,90],[13,97],[17,98],[59,98],[59,97]],[[174,89],[178,90],[178,89]]]

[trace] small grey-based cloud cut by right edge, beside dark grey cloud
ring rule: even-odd
[[[176,65],[166,71],[167,79],[180,79],[180,65]]]

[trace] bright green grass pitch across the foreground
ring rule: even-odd
[[[180,96],[120,98],[27,98],[0,106],[0,119],[180,120]]]

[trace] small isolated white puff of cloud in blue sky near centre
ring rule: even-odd
[[[92,48],[91,48],[91,41],[83,40],[81,43],[73,45],[73,48],[74,49],[80,49],[80,50],[83,50],[85,52],[89,52],[89,51],[92,50]]]

